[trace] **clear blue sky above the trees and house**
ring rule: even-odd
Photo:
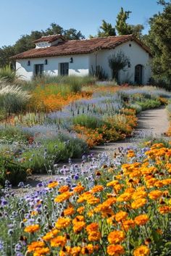
[[[46,30],[51,22],[64,29],[75,28],[88,37],[95,35],[101,20],[115,24],[120,8],[130,10],[130,24],[147,21],[162,11],[157,0],[1,0],[0,47],[12,45],[31,30]]]

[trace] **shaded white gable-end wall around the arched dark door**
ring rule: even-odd
[[[131,44],[131,46],[129,46]],[[135,41],[128,41],[125,44],[117,46],[116,49],[111,50],[102,50],[97,53],[90,55],[90,72],[93,68],[95,69],[96,65],[100,65],[104,72],[108,75],[108,78],[112,78],[112,72],[109,68],[108,58],[112,54],[117,54],[117,52],[122,51],[130,59],[130,68],[127,68],[126,71],[120,71],[119,80],[120,83],[131,82],[134,83],[135,77],[135,66],[140,64],[143,66],[143,84],[148,83],[149,78],[151,77],[151,68],[149,66],[149,53],[146,52],[141,46],[139,46]]]

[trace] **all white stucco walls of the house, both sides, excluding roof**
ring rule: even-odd
[[[129,46],[131,44],[131,47]],[[120,71],[119,80],[120,83],[131,82],[134,83],[135,79],[135,66],[143,66],[143,80],[142,83],[146,84],[151,77],[151,68],[149,62],[151,57],[149,53],[146,52],[141,46],[139,46],[135,41],[128,41],[125,44],[117,46],[116,49],[107,49],[98,51],[92,54],[78,54],[78,55],[68,55],[63,57],[43,57],[36,59],[19,59],[16,62],[17,74],[22,75],[24,80],[30,80],[33,78],[35,65],[44,64],[45,59],[47,59],[48,64],[43,65],[43,70],[45,74],[49,75],[60,75],[59,63],[69,62],[69,75],[89,75],[92,73],[92,66],[95,70],[96,65],[100,65],[108,78],[112,78],[112,72],[109,68],[108,58],[112,54],[122,51],[130,59],[130,67],[127,70]],[[70,57],[72,57],[73,62],[70,63]],[[27,65],[28,60],[30,60],[30,66]]]

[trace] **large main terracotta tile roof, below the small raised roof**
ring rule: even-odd
[[[115,47],[127,41],[136,41],[143,49],[151,54],[149,48],[133,35],[126,36],[108,36],[104,38],[92,38],[85,40],[64,41],[57,46],[50,46],[46,48],[30,49],[13,56],[11,59],[31,59],[38,57],[54,57],[70,54],[88,54],[100,49],[114,49]]]

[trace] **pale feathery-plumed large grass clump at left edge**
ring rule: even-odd
[[[22,91],[20,86],[10,85],[0,80],[0,109],[8,114],[18,113],[25,109],[30,99],[28,91]]]

